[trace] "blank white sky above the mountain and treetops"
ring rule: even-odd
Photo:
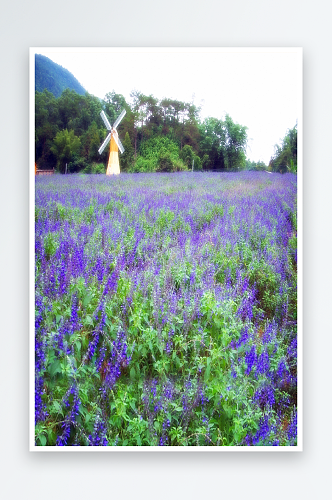
[[[139,90],[202,106],[201,119],[248,127],[247,156],[269,163],[274,145],[302,119],[302,52],[297,48],[33,48],[68,69],[97,97],[127,101]]]

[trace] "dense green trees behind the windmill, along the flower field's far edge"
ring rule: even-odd
[[[288,131],[269,167],[246,158],[247,127],[224,119],[200,120],[194,102],[181,102],[133,91],[130,102],[114,91],[103,100],[65,89],[59,97],[36,91],[36,163],[39,169],[104,173],[108,148],[99,155],[106,137],[100,117],[104,110],[112,123],[122,109],[127,113],[118,132],[125,148],[120,155],[123,172],[174,172],[182,170],[296,171],[297,131]]]

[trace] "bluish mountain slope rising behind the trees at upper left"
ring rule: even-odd
[[[80,95],[85,94],[86,90],[67,69],[41,54],[36,54],[35,61],[35,90],[43,92],[47,89],[55,97],[60,97],[65,89],[75,90]]]

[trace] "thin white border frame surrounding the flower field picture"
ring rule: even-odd
[[[35,355],[35,54],[40,50],[54,50],[54,52],[216,52],[216,53],[250,53],[256,52],[295,52],[301,59],[301,88],[299,89],[299,117],[298,117],[298,298],[297,298],[297,318],[298,318],[298,360],[297,360],[297,446],[186,446],[186,447],[159,447],[159,446],[35,446],[35,375],[34,375],[34,355]],[[50,54],[51,55],[51,54]],[[303,49],[301,47],[30,47],[29,50],[29,451],[37,452],[300,452],[303,451]]]

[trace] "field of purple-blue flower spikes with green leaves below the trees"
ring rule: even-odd
[[[297,180],[36,177],[37,446],[296,446]]]

